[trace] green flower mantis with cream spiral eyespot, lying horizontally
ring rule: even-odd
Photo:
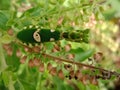
[[[24,43],[44,43],[53,42],[66,39],[72,42],[85,42],[88,43],[89,29],[73,30],[70,32],[63,32],[60,30],[44,29],[39,26],[24,27],[23,30],[17,33],[17,38]]]

